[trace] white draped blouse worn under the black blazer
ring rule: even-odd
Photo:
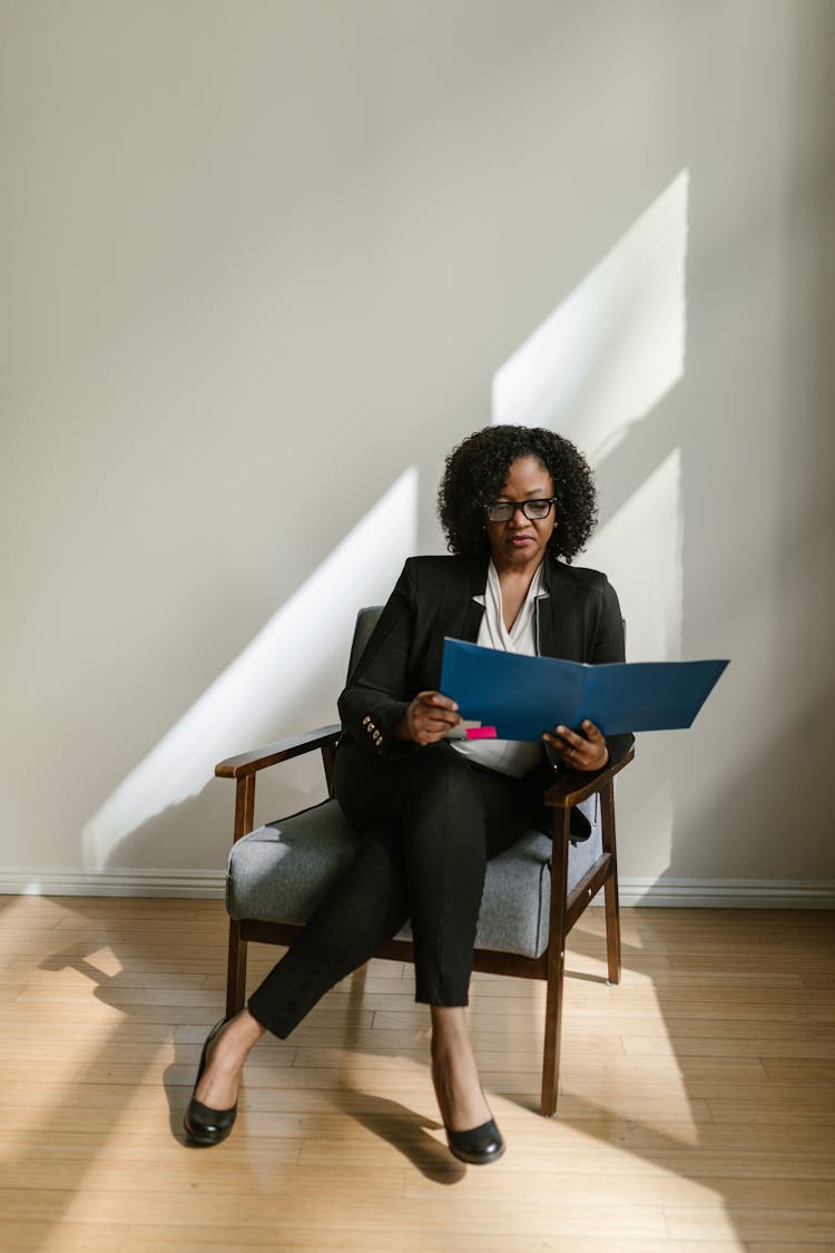
[[[496,648],[505,653],[521,653],[536,657],[536,598],[542,595],[545,586],[543,565],[541,563],[531,579],[527,596],[516,620],[508,630],[502,613],[502,585],[492,558],[487,571],[487,589],[483,596],[474,596],[484,606],[484,616],[476,640],[482,648]],[[518,739],[453,739],[452,747],[477,766],[488,767],[501,774],[522,778],[542,759],[542,744],[522,743]]]

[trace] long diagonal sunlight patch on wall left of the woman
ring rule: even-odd
[[[269,738],[320,659],[347,659],[358,608],[387,599],[416,546],[411,466],[84,826],[85,867],[100,870],[125,836],[202,792],[217,762]]]

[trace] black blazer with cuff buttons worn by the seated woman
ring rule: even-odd
[[[407,560],[339,697],[347,734],[384,758],[418,748],[392,732],[418,692],[438,690],[444,635],[476,642],[484,606],[473,596],[486,591],[488,565],[487,554]],[[606,575],[547,555],[536,638],[542,657],[622,662],[623,621]],[[632,742],[632,736],[608,736],[610,758],[617,761]]]

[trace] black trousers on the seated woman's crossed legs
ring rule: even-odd
[[[479,769],[449,744],[383,761],[339,744],[334,796],[357,853],[249,997],[284,1039],[317,1001],[412,920],[416,999],[466,1005],[487,861],[531,827],[550,831],[545,778]]]

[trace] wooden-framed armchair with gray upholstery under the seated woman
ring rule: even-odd
[[[379,609],[362,610],[353,659],[368,639]],[[253,831],[255,777],[259,771],[302,753],[320,751],[330,794],[338,725],[319,727],[215,768],[235,779],[234,845],[227,876],[229,964],[227,1014],[245,1001],[247,945],[289,945],[330,883],[351,861],[354,837],[337,801]],[[566,936],[603,888],[608,980],[620,982],[621,941],[617,901],[613,778],[635,756],[631,749],[593,777],[567,774],[545,793],[553,811],[553,838],[531,832],[488,863],[476,937],[474,970],[547,982],[541,1113],[556,1113]],[[570,840],[571,808],[580,804],[592,823],[591,837]],[[377,954],[412,961],[408,928]]]

